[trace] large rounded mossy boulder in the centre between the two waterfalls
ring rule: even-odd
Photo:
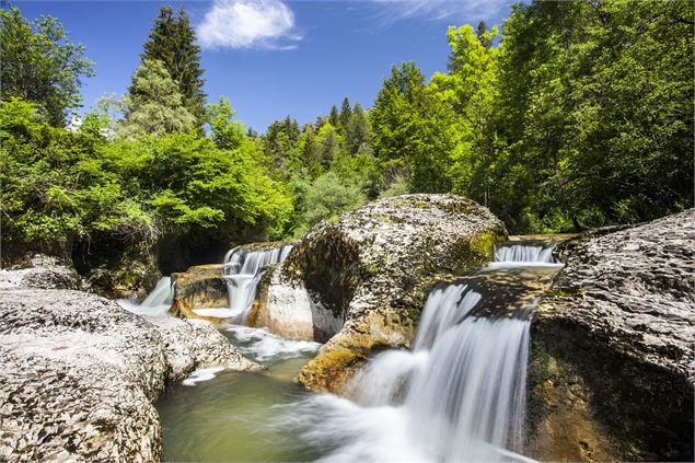
[[[381,199],[314,227],[269,273],[250,321],[327,342],[299,381],[337,392],[373,350],[410,345],[437,276],[488,262],[506,236],[488,209],[462,197]]]

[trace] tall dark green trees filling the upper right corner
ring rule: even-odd
[[[692,207],[693,46],[690,1],[516,8],[499,59],[494,209],[523,229]],[[512,190],[526,198],[505,199]]]

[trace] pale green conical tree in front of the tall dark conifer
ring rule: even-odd
[[[132,76],[131,89],[124,102],[125,120],[117,130],[120,138],[163,136],[195,128],[196,118],[184,106],[178,86],[162,61],[146,59]]]

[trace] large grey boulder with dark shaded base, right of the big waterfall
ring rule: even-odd
[[[695,210],[557,253],[532,324],[531,456],[693,461]]]

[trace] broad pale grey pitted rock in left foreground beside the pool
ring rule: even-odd
[[[26,288],[20,271],[4,271],[0,290],[0,460],[158,461],[151,402],[167,380],[259,368],[207,322],[146,320],[94,294]]]

